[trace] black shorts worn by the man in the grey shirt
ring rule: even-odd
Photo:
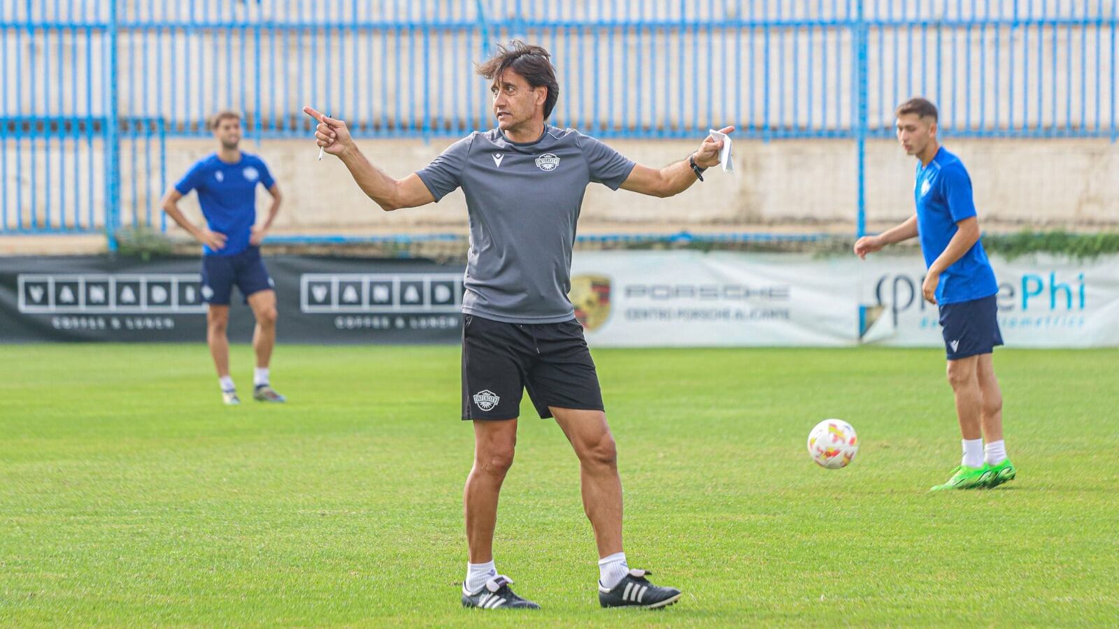
[[[548,406],[604,410],[583,326],[463,316],[462,419],[515,419],[526,388],[542,419],[552,416]]]

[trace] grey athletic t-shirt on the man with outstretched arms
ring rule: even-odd
[[[524,143],[498,129],[476,131],[416,172],[436,201],[460,187],[467,197],[462,311],[509,323],[570,321],[571,250],[586,185],[617,190],[632,170],[594,138],[545,126]]]

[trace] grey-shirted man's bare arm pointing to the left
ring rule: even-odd
[[[323,151],[342,160],[361,191],[382,209],[392,212],[435,203],[435,197],[415,172],[404,179],[394,179],[366,159],[350,137],[346,122],[325,115],[313,107],[303,107],[303,113],[319,122],[314,128],[316,143]]]

